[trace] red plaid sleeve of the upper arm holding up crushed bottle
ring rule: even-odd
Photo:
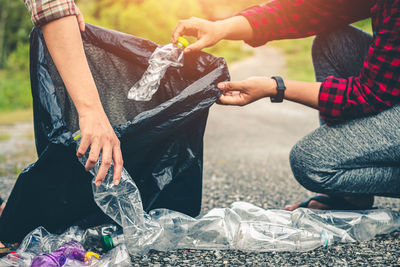
[[[251,46],[311,36],[370,17],[374,0],[272,0],[238,13],[253,28]]]

